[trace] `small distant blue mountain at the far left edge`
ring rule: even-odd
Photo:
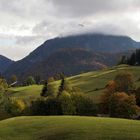
[[[14,61],[0,55],[0,73],[4,73]]]

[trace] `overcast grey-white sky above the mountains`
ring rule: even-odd
[[[140,41],[140,0],[0,0],[0,54],[11,59],[47,39],[84,32]]]

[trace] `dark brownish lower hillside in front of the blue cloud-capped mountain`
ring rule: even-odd
[[[30,68],[25,74],[40,75],[43,79],[57,73],[76,75],[81,72],[101,70],[118,62],[120,54],[94,53],[84,49],[63,49],[50,55],[46,60]]]

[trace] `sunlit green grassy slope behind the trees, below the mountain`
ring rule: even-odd
[[[77,76],[68,78],[71,85],[78,87],[85,94],[92,95],[96,101],[98,101],[99,95],[103,92],[101,90],[105,87],[109,80],[112,80],[117,73],[121,71],[132,72],[135,79],[136,86],[140,86],[140,81],[137,80],[140,78],[140,67],[128,67],[128,66],[118,66],[102,71],[93,71]],[[59,85],[59,81],[54,82],[56,87]],[[42,86],[29,86],[29,87],[19,87],[11,88],[9,93],[11,96],[16,98],[34,98],[38,97],[41,92]],[[98,89],[95,91],[95,89]]]

